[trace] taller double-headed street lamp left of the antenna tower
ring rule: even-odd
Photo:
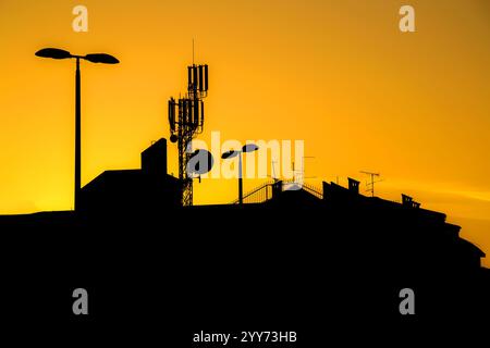
[[[79,209],[79,192],[82,189],[82,113],[81,113],[81,77],[79,60],[84,59],[91,63],[118,64],[119,60],[106,53],[93,53],[87,55],[74,55],[65,50],[57,48],[45,48],[36,52],[37,57],[52,59],[76,59],[75,72],[75,211]]]

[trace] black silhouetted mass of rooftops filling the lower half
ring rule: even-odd
[[[206,325],[295,327],[314,345],[342,330],[462,327],[490,312],[485,253],[409,196],[366,197],[354,178],[321,188],[274,181],[244,204],[182,207],[181,187],[160,139],[143,151],[142,169],[107,171],[87,184],[79,214],[0,216],[22,264],[11,276],[22,282],[3,298],[29,298],[42,284],[36,294],[48,300],[36,313],[58,320],[72,304],[60,291],[83,284],[96,294],[94,325],[143,325],[145,337],[161,337],[164,327],[175,346],[179,330]],[[413,319],[399,311],[403,288],[416,294]],[[33,315],[30,302],[9,303],[15,315]]]

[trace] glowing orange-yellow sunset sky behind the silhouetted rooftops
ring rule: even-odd
[[[72,30],[81,3],[88,33]],[[416,33],[399,30],[402,4]],[[138,167],[169,136],[167,100],[185,90],[195,38],[210,66],[201,139],[304,140],[314,184],[381,172],[379,196],[414,196],[490,252],[489,16],[486,0],[1,0],[0,213],[73,206],[74,62],[36,50],[121,60],[82,66],[86,184]],[[197,203],[235,197],[236,181],[195,185]]]

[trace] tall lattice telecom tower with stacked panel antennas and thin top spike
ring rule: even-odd
[[[208,65],[194,63],[187,66],[187,92],[184,97],[169,100],[170,141],[177,142],[179,179],[182,185],[181,203],[183,207],[193,204],[193,178],[187,173],[187,163],[193,156],[192,140],[204,130],[204,101],[208,96]]]

